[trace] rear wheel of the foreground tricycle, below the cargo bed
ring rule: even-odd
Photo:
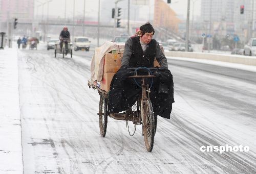
[[[103,95],[100,95],[100,99],[99,99],[99,131],[100,131],[101,137],[105,137],[107,125],[108,125],[108,100]]]

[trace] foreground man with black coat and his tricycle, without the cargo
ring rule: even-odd
[[[148,152],[153,150],[157,116],[170,118],[174,103],[173,76],[159,43],[152,39],[154,33],[152,25],[145,23],[139,36],[126,41],[121,67],[114,74],[109,91],[89,84],[100,94],[101,136],[105,136],[108,116],[133,121],[135,130],[136,125],[142,125]],[[158,68],[154,68],[155,59],[160,64]]]

